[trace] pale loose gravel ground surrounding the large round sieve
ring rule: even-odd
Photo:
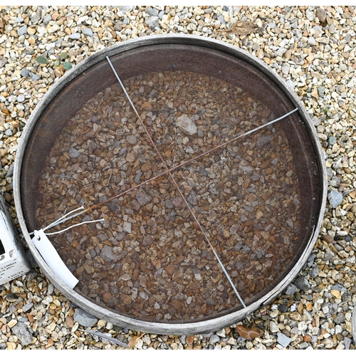
[[[308,263],[279,298],[239,325],[179,337],[120,328],[70,303],[33,262],[26,276],[0,286],[0,350],[122,348],[85,328],[131,340],[137,349],[355,349],[355,6],[0,9],[0,187],[15,223],[11,181],[17,145],[32,110],[66,71],[64,61],[75,66],[101,48],[154,33],[226,41],[276,70],[312,118],[328,169],[327,209]],[[55,66],[62,52],[68,56]],[[49,63],[39,65],[37,56]]]

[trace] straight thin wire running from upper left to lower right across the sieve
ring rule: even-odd
[[[169,171],[169,168],[167,167],[166,162],[164,161],[164,159],[163,159],[162,155],[160,154],[159,150],[157,149],[157,146],[155,145],[155,142],[153,141],[153,139],[152,139],[152,137],[151,137],[151,135],[150,135],[150,132],[148,132],[146,125],[143,123],[143,121],[142,121],[142,119],[141,119],[139,113],[137,112],[137,110],[136,110],[136,108],[135,108],[135,105],[132,103],[132,101],[131,101],[131,99],[130,99],[130,96],[127,94],[127,91],[125,90],[125,87],[124,87],[124,85],[122,84],[122,81],[120,80],[119,75],[117,75],[117,72],[116,72],[114,66],[112,66],[112,63],[111,63],[111,61],[110,61],[110,58],[109,58],[108,56],[106,56],[106,59],[108,60],[108,62],[109,62],[109,64],[110,64],[110,67],[112,68],[112,71],[115,73],[115,76],[116,76],[118,82],[120,83],[121,88],[122,88],[122,90],[124,91],[124,93],[125,93],[125,95],[126,95],[126,97],[127,97],[127,100],[129,100],[129,103],[130,103],[130,105],[132,106],[132,109],[135,111],[135,114],[137,115],[138,120],[140,121],[142,127],[144,128],[144,130],[145,130],[145,132],[146,132],[146,134],[147,134],[147,136],[149,137],[149,139],[150,139],[150,141],[151,141],[151,143],[152,143],[152,146],[155,148],[155,151],[157,152],[157,155],[159,156],[159,159],[161,159],[162,164],[164,165],[164,168],[166,169],[167,173],[169,174],[169,177],[171,177],[172,182],[174,183],[174,185],[176,186],[176,188],[177,188],[177,190],[178,190],[180,196],[182,197],[182,199],[183,199],[183,201],[184,201],[184,204],[187,205],[187,208],[189,209],[190,214],[192,214],[192,217],[193,217],[194,221],[196,222],[197,226],[199,226],[199,229],[200,229],[201,233],[203,234],[204,238],[206,239],[207,243],[209,244],[211,250],[214,252],[214,255],[215,255],[217,261],[219,262],[219,264],[220,264],[222,270],[224,271],[224,273],[225,273],[225,275],[226,275],[226,278],[229,280],[229,283],[231,284],[231,287],[234,289],[234,292],[236,293],[237,297],[239,298],[241,304],[244,306],[244,308],[246,308],[246,304],[244,303],[244,300],[241,298],[239,292],[236,290],[236,287],[235,287],[234,283],[231,281],[231,278],[230,278],[230,276],[229,276],[229,273],[226,271],[226,268],[224,267],[224,264],[221,262],[221,260],[220,260],[220,258],[219,258],[219,256],[218,256],[218,254],[216,253],[214,246],[211,245],[211,242],[209,241],[208,236],[206,236],[206,233],[205,233],[203,227],[201,226],[201,224],[199,223],[199,221],[198,221],[198,219],[197,219],[197,216],[195,216],[194,211],[193,211],[192,208],[189,206],[188,201],[187,201],[187,199],[185,199],[184,194],[182,193],[181,189],[179,188],[177,182],[175,181],[172,172]]]

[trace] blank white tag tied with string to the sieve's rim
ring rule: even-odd
[[[56,248],[53,247],[51,241],[48,240],[48,237],[43,230],[35,230],[33,233],[35,236],[33,237],[32,242],[38,249],[38,252],[41,253],[42,258],[46,261],[51,270],[56,273],[58,278],[73,289],[79,281],[64,264],[61,257],[58,255]]]

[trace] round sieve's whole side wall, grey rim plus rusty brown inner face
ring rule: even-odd
[[[264,290],[263,295],[251,298],[246,308],[236,308],[231,313],[219,314],[216,318],[183,322],[149,321],[122,315],[93,303],[82,293],[68,288],[48,268],[33,245],[30,233],[41,227],[36,226],[34,211],[41,167],[46,159],[43,152],[51,150],[66,120],[73,117],[75,112],[100,90],[115,84],[115,77],[110,73],[106,56],[110,57],[114,66],[120,67],[124,63],[125,70],[119,73],[122,80],[141,73],[172,70],[174,67],[174,70],[182,69],[214,75],[228,82],[239,82],[241,88],[251,91],[258,100],[273,108],[277,117],[298,108],[298,114],[295,114],[297,119],[281,122],[281,125],[297,167],[303,208],[300,219],[303,244],[295,254],[293,263],[288,265],[288,273],[284,273],[281,280],[275,281],[271,290]],[[63,117],[63,120],[58,120],[56,125],[53,125],[53,120],[57,120],[57,117]],[[48,125],[50,122],[51,125]],[[158,334],[188,335],[219,330],[236,323],[281,294],[303,268],[315,245],[325,211],[326,194],[327,175],[323,151],[308,112],[295,93],[271,68],[246,51],[200,36],[164,35],[138,38],[98,51],[69,70],[48,90],[29,118],[21,137],[14,169],[14,198],[19,223],[31,253],[46,276],[73,303],[88,313],[115,325]],[[51,222],[48,221],[48,224]]]

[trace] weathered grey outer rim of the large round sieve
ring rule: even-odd
[[[41,116],[41,112],[46,108],[46,106],[51,103],[51,100],[55,98],[55,96],[61,91],[70,80],[73,80],[77,75],[83,73],[85,70],[95,65],[100,61],[103,61],[106,56],[114,56],[117,53],[122,53],[124,51],[130,51],[130,49],[138,48],[142,46],[151,46],[156,44],[186,44],[186,45],[194,45],[201,46],[204,48],[212,48],[216,51],[221,51],[223,53],[229,54],[236,58],[239,58],[242,61],[249,63],[251,66],[255,67],[257,70],[261,71],[264,75],[266,75],[274,84],[280,88],[281,91],[286,95],[290,103],[295,106],[295,108],[299,108],[299,115],[303,120],[305,125],[305,129],[308,131],[310,136],[310,140],[312,142],[315,156],[318,160],[318,167],[320,172],[320,210],[318,219],[315,221],[313,235],[310,237],[310,241],[308,246],[306,246],[305,250],[302,253],[299,261],[295,263],[295,266],[290,270],[289,275],[281,281],[273,290],[271,290],[268,294],[266,294],[260,300],[257,300],[255,303],[248,305],[247,308],[243,310],[239,310],[235,313],[230,313],[228,315],[221,316],[219,318],[205,320],[203,322],[198,323],[155,323],[155,322],[145,322],[142,320],[136,320],[134,318],[128,318],[123,315],[113,313],[110,310],[105,308],[101,308],[100,306],[90,302],[90,300],[83,298],[83,296],[76,293],[74,290],[68,288],[65,283],[57,278],[57,276],[48,268],[46,262],[41,257],[40,253],[38,253],[36,247],[33,245],[31,241],[31,236],[29,235],[26,221],[23,216],[23,211],[21,209],[21,165],[24,152],[26,150],[26,144],[28,142],[28,138],[31,135],[33,128],[36,125],[36,121],[38,117]],[[17,216],[19,219],[19,223],[21,226],[21,230],[23,232],[23,236],[26,239],[26,242],[30,248],[33,257],[36,259],[38,266],[41,268],[43,273],[51,280],[54,286],[61,290],[61,292],[66,295],[73,303],[78,305],[83,310],[87,311],[95,315],[98,318],[104,319],[113,323],[114,325],[125,326],[132,330],[139,330],[145,333],[156,333],[156,334],[174,334],[174,335],[192,335],[198,333],[206,333],[215,330],[220,330],[228,325],[236,323],[236,321],[244,318],[245,315],[252,313],[254,310],[258,309],[261,305],[266,305],[271,302],[274,298],[282,293],[282,291],[293,281],[295,276],[300,272],[306,263],[308,256],[310,255],[313,247],[315,246],[315,242],[318,239],[318,234],[320,231],[320,227],[323,221],[323,216],[325,212],[325,204],[326,204],[326,195],[327,195],[327,174],[325,167],[325,158],[323,155],[323,150],[320,147],[320,142],[318,139],[318,135],[316,134],[313,123],[308,116],[308,112],[306,112],[303,104],[298,99],[297,95],[293,93],[286,82],[280,78],[276,73],[271,70],[265,63],[251,56],[248,52],[241,50],[235,46],[229,45],[227,43],[223,43],[220,41],[216,41],[211,38],[205,38],[201,36],[192,36],[192,35],[156,35],[156,36],[147,36],[145,38],[137,38],[131,41],[125,41],[123,43],[119,43],[117,45],[111,46],[110,48],[104,48],[97,53],[94,53],[90,57],[86,58],[83,62],[79,63],[77,66],[73,67],[70,71],[63,75],[63,77],[58,80],[56,84],[54,84],[43,96],[41,102],[37,105],[36,109],[33,110],[31,117],[29,118],[25,129],[23,130],[23,135],[21,137],[21,142],[19,144],[18,151],[16,153],[15,159],[15,167],[14,167],[14,200],[16,205]],[[51,221],[48,221],[50,223]]]

